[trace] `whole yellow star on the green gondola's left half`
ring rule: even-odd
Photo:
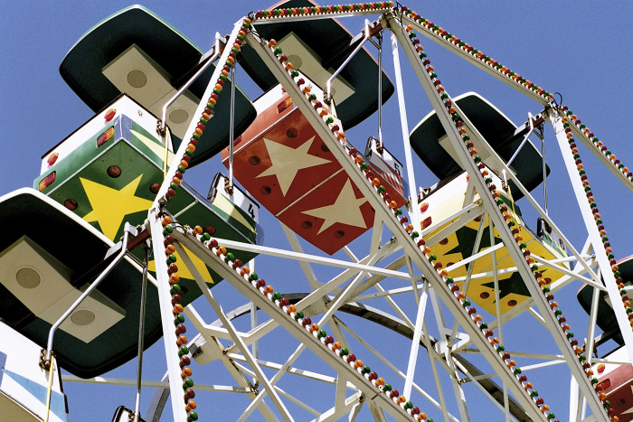
[[[84,191],[90,201],[92,211],[83,217],[88,222],[97,221],[106,237],[114,240],[118,228],[128,214],[149,210],[152,202],[134,196],[143,174],[117,191],[103,184],[80,177]]]

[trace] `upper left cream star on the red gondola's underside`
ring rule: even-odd
[[[266,144],[272,165],[257,177],[274,174],[277,176],[281,192],[286,196],[290,184],[295,180],[299,170],[330,163],[330,160],[326,160],[325,158],[307,154],[314,140],[315,136],[312,136],[302,145],[299,145],[297,148],[292,148],[264,138],[264,144]]]

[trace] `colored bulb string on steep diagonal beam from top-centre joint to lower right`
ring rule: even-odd
[[[420,56],[420,60],[422,61],[422,64],[424,65],[425,69],[430,74],[430,80],[433,81],[433,85],[437,89],[440,98],[442,98],[442,100],[444,101],[445,107],[449,110],[449,114],[451,115],[453,122],[458,129],[458,133],[462,137],[463,142],[466,144],[468,148],[469,155],[471,156],[475,164],[477,164],[477,167],[479,169],[479,172],[482,178],[484,178],[488,186],[488,189],[492,193],[493,198],[495,198],[496,204],[499,210],[502,212],[503,217],[508,224],[508,227],[510,228],[510,230],[512,230],[512,233],[515,236],[516,243],[519,245],[519,248],[523,251],[523,255],[526,262],[530,265],[530,269],[532,270],[534,277],[536,278],[539,286],[541,286],[543,290],[543,295],[545,295],[554,315],[557,317],[559,324],[561,324],[562,331],[566,333],[567,339],[571,342],[572,348],[574,352],[576,353],[578,360],[581,362],[583,370],[585,370],[585,373],[587,374],[587,376],[590,377],[591,383],[593,384],[594,389],[596,389],[596,393],[598,394],[600,401],[603,403],[604,408],[608,410],[609,417],[613,417],[612,409],[609,408],[610,406],[609,400],[606,399],[606,395],[601,393],[601,387],[600,385],[598,385],[598,379],[593,377],[593,370],[590,369],[590,363],[587,361],[587,357],[582,352],[582,348],[578,346],[578,341],[573,339],[573,333],[572,331],[570,331],[569,324],[566,324],[566,319],[562,315],[561,308],[558,306],[558,303],[553,300],[554,297],[550,291],[550,287],[547,286],[547,281],[545,281],[542,278],[543,275],[541,271],[539,270],[538,265],[535,263],[534,258],[530,256],[530,251],[529,249],[527,249],[527,245],[525,244],[525,242],[523,241],[523,238],[519,234],[518,227],[516,227],[516,221],[514,220],[512,215],[508,212],[503,198],[501,198],[501,195],[499,194],[499,192],[496,191],[496,185],[493,183],[493,179],[489,177],[486,166],[482,162],[481,157],[477,155],[477,149],[475,148],[475,145],[473,144],[473,142],[470,141],[470,136],[468,136],[466,129],[463,127],[463,121],[461,120],[461,117],[459,117],[455,108],[453,108],[452,100],[449,97],[449,94],[442,87],[441,82],[438,79],[437,73],[434,71],[433,67],[430,65],[430,60],[427,58],[427,55],[422,54],[423,47],[420,45],[420,40],[416,38],[416,33],[412,31],[412,26],[411,25],[407,26],[406,30],[407,30],[407,33],[409,33],[411,43],[415,46],[416,51],[419,52],[419,56]],[[579,171],[581,171],[581,169],[579,169]],[[605,239],[605,241],[606,240],[608,239]],[[615,270],[617,270],[617,267]],[[631,313],[633,313],[633,309],[631,310]],[[525,382],[524,378],[520,380],[522,383]],[[524,388],[526,390],[531,389],[532,385],[529,383],[525,383]],[[534,394],[534,390],[533,390],[530,393],[530,395],[534,398],[538,396],[538,393]],[[547,405],[544,405],[543,401],[539,402],[537,399],[535,402],[537,406],[541,408],[543,413],[549,410],[549,407],[547,407]],[[547,417],[552,419],[554,415],[552,412],[550,412],[548,413]],[[616,420],[616,419],[613,419],[613,420]]]

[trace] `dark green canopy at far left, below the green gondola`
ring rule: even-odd
[[[5,195],[0,201],[0,219],[5,221],[0,253],[27,236],[71,270],[72,286],[79,288],[90,282],[109,264],[103,259],[112,244],[96,235],[90,224],[43,193],[26,188]],[[152,283],[147,287],[146,348],[163,335],[158,292]],[[125,317],[89,343],[60,329],[52,344],[61,367],[81,378],[99,376],[137,356],[141,294],[138,268],[124,259],[109,272],[97,290],[122,307]],[[2,284],[0,319],[46,347],[52,324],[35,316]]]

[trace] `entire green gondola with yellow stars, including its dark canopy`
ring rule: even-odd
[[[167,137],[166,146],[156,132],[156,116],[179,85],[207,60],[192,42],[142,6],[128,7],[96,25],[68,52],[60,71],[79,97],[99,113],[43,156],[43,173],[33,188],[63,203],[112,240],[122,236],[126,221],[142,224],[163,182],[165,157],[169,163],[180,145],[213,65],[168,108],[165,123],[172,136]],[[256,111],[240,89],[235,97],[239,134]],[[228,120],[229,104],[224,101],[213,110],[210,124]],[[228,125],[217,126],[218,130],[205,131],[190,166],[228,145]],[[205,230],[217,231],[225,239],[256,241],[256,222],[249,208],[257,204],[249,199],[242,210],[222,194],[213,195],[211,203],[186,183],[182,187],[184,195],[167,207],[179,222],[204,224]],[[254,254],[242,256],[250,259]],[[207,284],[220,281],[201,260],[194,258],[194,264]],[[183,270],[182,284],[195,292],[186,295],[191,301],[201,292],[191,272]]]

